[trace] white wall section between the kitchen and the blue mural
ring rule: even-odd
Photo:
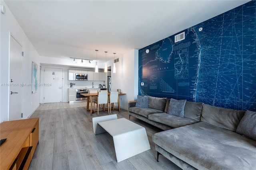
[[[111,64],[113,68],[114,64]],[[116,73],[111,72],[111,90],[121,89],[126,95],[120,96],[120,107],[128,110],[128,102],[136,100],[138,94],[138,50],[131,51],[119,57],[116,63]]]

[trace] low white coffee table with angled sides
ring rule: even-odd
[[[107,121],[104,121],[104,118]],[[150,149],[146,129],[132,121],[117,119],[116,115],[107,115],[94,117],[92,122],[95,135],[108,132],[113,137],[117,162]]]

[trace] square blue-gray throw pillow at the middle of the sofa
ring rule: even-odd
[[[178,117],[184,117],[184,107],[187,100],[171,99],[167,114]]]

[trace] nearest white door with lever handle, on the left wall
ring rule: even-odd
[[[21,119],[22,113],[22,46],[10,37],[9,121]]]

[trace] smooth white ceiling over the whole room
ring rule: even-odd
[[[5,0],[41,56],[107,61],[248,0]]]

